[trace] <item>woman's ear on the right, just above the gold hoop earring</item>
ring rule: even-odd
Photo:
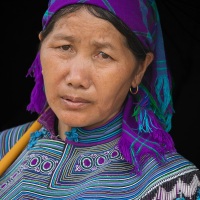
[[[135,74],[132,84],[131,84],[133,88],[136,88],[140,84],[140,82],[142,81],[142,78],[144,76],[144,73],[147,70],[147,67],[151,64],[153,59],[154,59],[153,53],[149,52],[146,54],[145,60],[139,64],[139,67],[136,71],[136,74]]]

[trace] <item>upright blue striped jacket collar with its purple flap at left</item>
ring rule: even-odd
[[[44,112],[39,118],[39,122],[50,132],[52,139],[57,139],[55,131],[56,116],[51,109]],[[66,143],[75,146],[93,146],[109,142],[120,137],[122,132],[122,112],[109,120],[103,126],[94,129],[72,128],[66,132]]]

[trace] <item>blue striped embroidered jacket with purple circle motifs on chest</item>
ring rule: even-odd
[[[56,139],[47,121],[42,122],[44,126],[32,134],[29,145],[0,177],[1,200],[200,199],[200,171],[178,153],[167,154],[164,164],[144,158],[142,174],[134,173],[134,166],[118,148],[121,116],[109,122],[112,131],[96,129],[89,142],[85,137],[88,133],[81,129],[79,142]],[[31,124],[0,133],[0,158]],[[107,134],[102,135],[105,131]]]

